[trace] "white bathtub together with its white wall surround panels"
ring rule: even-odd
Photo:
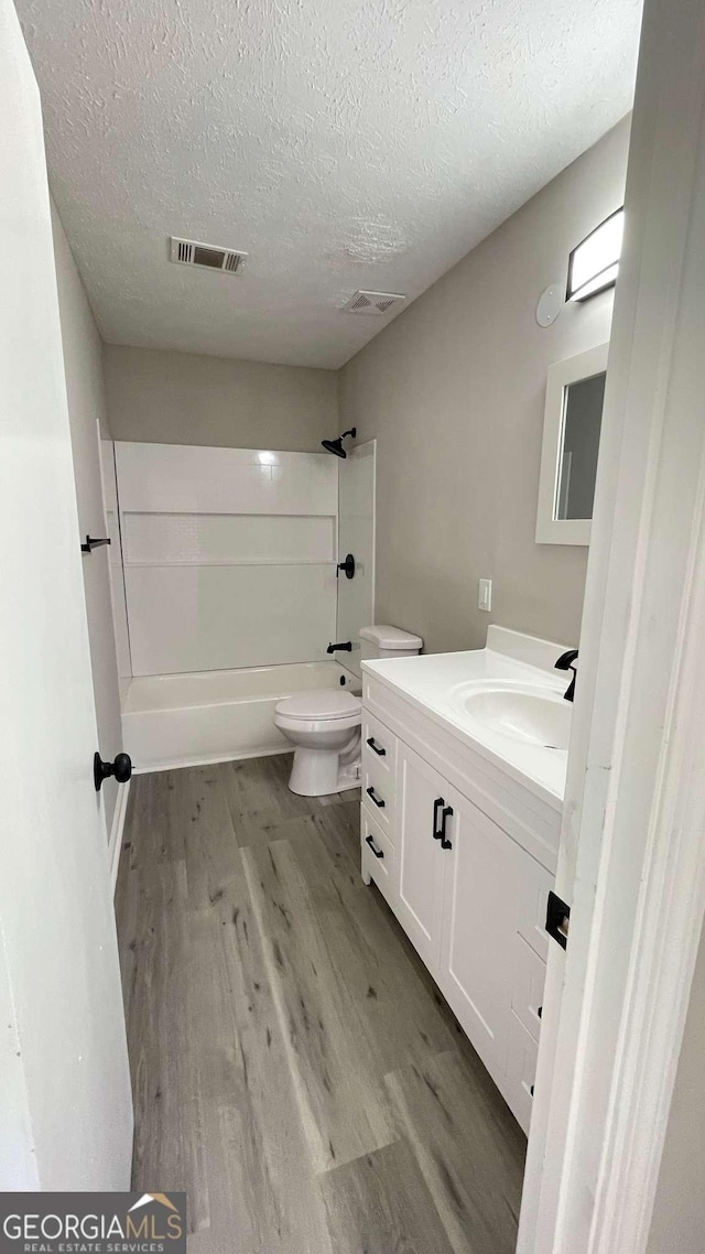
[[[374,441],[347,460],[339,539],[347,461],[104,443],[113,609],[133,676],[123,683],[123,732],[135,770],[285,752],[278,701],[339,686],[344,675],[360,691],[358,631],[373,613]],[[337,578],[340,544],[354,551],[352,581]],[[356,658],[329,657],[329,643],[347,638]]]

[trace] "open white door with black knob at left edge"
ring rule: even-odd
[[[0,1189],[124,1189],[129,1072],[41,114],[11,0],[0,103]]]

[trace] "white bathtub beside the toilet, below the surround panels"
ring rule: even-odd
[[[358,677],[334,660],[134,678],[123,706],[123,744],[137,772],[289,752],[273,722],[277,701],[336,688],[341,680],[361,691]]]

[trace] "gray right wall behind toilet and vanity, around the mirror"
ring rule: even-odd
[[[547,329],[534,311],[622,203],[627,145],[625,119],[340,372],[341,425],[378,438],[376,617],[432,651],[482,646],[489,622],[578,640],[587,548],[533,538],[546,370],[608,339],[612,293]]]

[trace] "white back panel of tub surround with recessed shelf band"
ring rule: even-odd
[[[335,458],[117,443],[115,464],[133,675],[325,657]]]

